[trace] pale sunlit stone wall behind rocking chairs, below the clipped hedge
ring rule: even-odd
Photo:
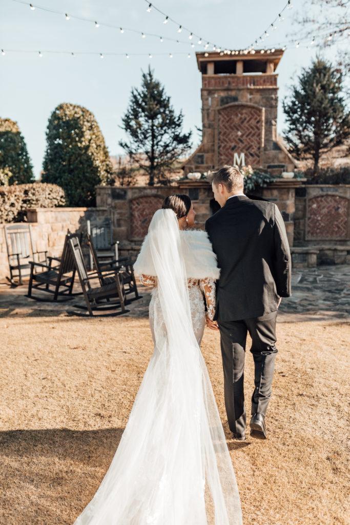
[[[48,251],[48,255],[61,255],[67,230],[86,232],[86,221],[102,220],[108,215],[106,208],[33,208],[28,210],[34,251]],[[0,224],[0,279],[9,276],[5,224]],[[28,272],[27,272],[28,273]],[[24,275],[26,272],[24,272]]]

